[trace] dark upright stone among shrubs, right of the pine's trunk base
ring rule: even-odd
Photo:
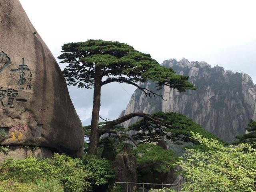
[[[131,153],[128,144],[116,155],[113,163],[113,168],[116,170],[116,181],[118,182],[137,182],[137,169],[134,155]],[[121,184],[126,189],[126,184]],[[128,191],[136,190],[136,185],[129,184]]]

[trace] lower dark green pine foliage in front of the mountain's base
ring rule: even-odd
[[[153,122],[145,124],[144,120],[140,120],[128,128],[128,130],[142,130],[142,132],[133,136],[134,140],[156,142],[161,140],[163,136],[166,136],[167,139],[173,142],[177,141],[177,143],[180,140],[184,142],[196,142],[196,140],[190,138],[191,132],[200,133],[206,138],[215,138],[213,134],[206,132],[199,124],[182,114],[157,112],[152,114],[152,116],[160,118],[162,122],[170,125],[170,127],[161,127]]]

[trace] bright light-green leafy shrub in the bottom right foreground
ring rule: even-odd
[[[256,150],[250,144],[227,145],[193,134],[208,150],[188,149],[177,166],[187,178],[183,192],[255,192]]]

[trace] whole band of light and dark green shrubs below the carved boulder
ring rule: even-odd
[[[0,192],[1,188],[4,191],[89,192],[112,177],[108,161],[96,157],[82,161],[54,154],[52,159],[8,159],[0,164]]]

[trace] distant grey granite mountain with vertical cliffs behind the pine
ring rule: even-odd
[[[178,92],[164,86],[157,91],[154,83],[147,82],[144,86],[162,94],[166,101],[148,98],[136,90],[121,115],[178,112],[227,142],[234,140],[237,134],[245,133],[250,119],[256,119],[256,85],[247,74],[225,71],[219,66],[212,68],[206,62],[189,62],[185,58],[179,62],[166,60],[162,65],[189,76],[197,89]],[[128,127],[137,120],[133,118],[123,126]]]

